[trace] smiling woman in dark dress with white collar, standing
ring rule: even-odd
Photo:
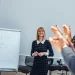
[[[45,39],[44,28],[40,27],[37,30],[36,40],[32,42],[31,56],[34,56],[34,62],[30,75],[47,75],[47,55],[53,56],[54,54],[50,42]]]

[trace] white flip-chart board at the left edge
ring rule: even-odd
[[[0,71],[17,71],[19,63],[20,31],[0,29]]]

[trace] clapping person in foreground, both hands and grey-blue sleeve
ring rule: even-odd
[[[66,39],[63,38],[62,31],[58,26],[56,27],[51,26],[52,32],[57,37],[50,37],[49,41],[57,50],[61,51],[65,63],[67,64],[71,72],[75,75],[75,53],[73,44],[71,42],[72,38],[70,27],[63,25],[63,29]]]

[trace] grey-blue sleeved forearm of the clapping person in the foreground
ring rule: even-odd
[[[75,73],[75,53],[72,48],[66,46],[61,50],[61,53],[69,69]]]

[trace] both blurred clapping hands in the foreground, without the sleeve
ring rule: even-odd
[[[61,48],[64,45],[68,45],[68,46],[72,47],[72,49],[74,50],[73,44],[71,42],[72,37],[71,37],[70,26],[68,27],[67,25],[63,25],[63,30],[64,30],[66,39],[63,38],[62,30],[58,27],[58,25],[56,25],[56,27],[51,26],[51,30],[55,35],[57,35],[57,37],[50,38],[49,40],[56,47],[57,50],[61,50]]]

